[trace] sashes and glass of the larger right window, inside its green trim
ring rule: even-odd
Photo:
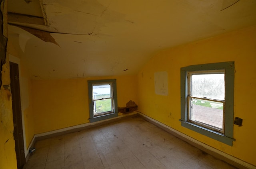
[[[224,133],[225,71],[188,72],[188,121]]]

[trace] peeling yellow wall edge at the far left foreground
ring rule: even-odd
[[[7,0],[0,0],[0,169],[17,169],[13,138],[12,99],[10,92],[10,67],[7,47]]]

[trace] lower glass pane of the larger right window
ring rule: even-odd
[[[223,103],[190,98],[190,120],[223,128]]]

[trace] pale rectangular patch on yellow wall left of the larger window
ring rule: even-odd
[[[167,72],[155,72],[155,93],[168,96],[168,74]]]

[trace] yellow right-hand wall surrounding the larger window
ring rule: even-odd
[[[233,146],[220,143],[181,126],[180,68],[188,65],[235,61]],[[158,53],[138,74],[139,111],[220,151],[256,165],[256,26],[210,39],[173,47]],[[154,73],[168,73],[168,96],[154,92]]]

